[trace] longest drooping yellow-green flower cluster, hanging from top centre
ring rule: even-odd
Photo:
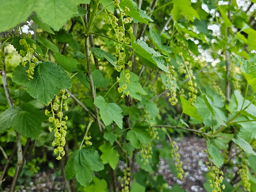
[[[114,38],[117,39],[117,41],[122,42],[123,44],[116,43],[115,49],[116,49],[116,57],[118,58],[117,60],[117,66],[116,66],[116,71],[123,73],[122,77],[116,78],[117,82],[122,81],[122,86],[118,88],[119,93],[123,93],[121,95],[121,98],[124,98],[124,95],[128,96],[129,91],[127,91],[127,87],[130,83],[130,70],[125,69],[125,64],[129,67],[132,67],[132,61],[126,62],[128,60],[128,57],[132,55],[132,51],[129,52],[125,49],[125,45],[129,45],[131,39],[128,37],[125,37],[125,31],[128,31],[129,33],[132,33],[132,27],[130,27],[128,30],[125,29],[125,25],[129,24],[132,22],[132,19],[130,17],[125,18],[125,13],[129,12],[129,8],[125,7],[125,10],[122,10],[121,7],[119,6],[120,2],[118,0],[114,1],[115,6],[118,8],[120,12],[120,17],[119,19],[116,18],[116,16],[112,12],[107,12],[108,15],[108,24],[111,25],[111,28],[108,28],[108,32],[110,32],[112,29],[115,33]],[[118,21],[121,21],[122,25],[118,26]]]

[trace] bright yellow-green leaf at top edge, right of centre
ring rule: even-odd
[[[194,21],[193,16],[195,16],[198,20],[200,20],[199,15],[196,10],[192,8],[190,5],[190,1],[188,0],[173,0],[173,5],[177,6],[180,11],[185,14],[189,20]]]

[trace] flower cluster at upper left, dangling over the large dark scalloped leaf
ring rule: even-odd
[[[28,76],[28,81],[30,81],[31,79],[33,79],[33,75],[34,75],[34,68],[36,67],[36,62],[37,59],[36,58],[31,58],[31,56],[33,55],[34,50],[36,50],[36,45],[32,44],[30,47],[30,44],[27,43],[26,38],[31,38],[31,33],[28,32],[28,34],[22,33],[21,36],[23,38],[20,39],[19,44],[22,46],[22,49],[20,50],[20,56],[21,57],[25,57],[28,53],[28,61],[22,61],[21,64],[26,67],[26,64],[29,63],[29,68],[28,70],[26,70],[27,76]]]

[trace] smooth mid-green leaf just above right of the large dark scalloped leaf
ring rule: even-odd
[[[53,57],[56,62],[69,73],[77,71],[78,62],[74,58],[68,58],[61,53],[54,53]]]

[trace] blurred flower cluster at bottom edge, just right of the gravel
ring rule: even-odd
[[[211,179],[209,179],[209,183],[210,183],[210,187],[213,188],[212,192],[222,192],[222,189],[225,189],[225,185],[221,185],[222,181],[223,181],[223,172],[220,171],[218,168],[216,168],[214,165],[212,166],[211,163],[211,167],[208,166],[207,167],[208,170],[211,170],[208,175],[210,176]]]

